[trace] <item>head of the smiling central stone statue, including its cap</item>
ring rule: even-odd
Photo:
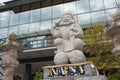
[[[59,22],[60,26],[67,26],[75,23],[75,18],[71,13],[65,13]]]

